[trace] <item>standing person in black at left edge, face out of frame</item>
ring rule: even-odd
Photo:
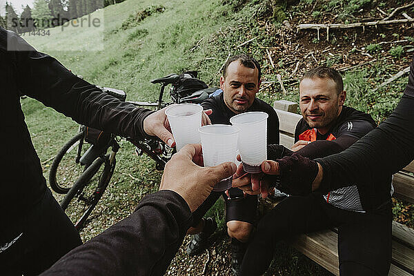
[[[170,146],[175,142],[166,129],[164,110],[152,112],[119,101],[1,27],[0,74],[1,275],[37,275],[79,246],[81,239],[46,187],[21,110],[21,94],[79,124],[135,139],[157,136]]]

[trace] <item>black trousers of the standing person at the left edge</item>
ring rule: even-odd
[[[38,275],[82,244],[75,226],[49,189],[21,221],[21,237],[0,253],[0,275]]]

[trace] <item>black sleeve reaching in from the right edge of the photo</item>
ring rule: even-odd
[[[389,190],[374,186],[375,180],[401,170],[414,159],[413,137],[414,61],[404,95],[390,117],[343,152],[316,159],[324,171],[319,190],[356,183],[361,194],[370,195],[371,206],[379,206]]]

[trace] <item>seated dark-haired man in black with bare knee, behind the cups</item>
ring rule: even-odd
[[[211,97],[201,103],[204,110],[213,110],[210,115],[212,124],[230,125],[230,118],[242,112],[262,111],[268,114],[267,142],[279,144],[279,119],[275,110],[268,103],[257,99],[261,81],[259,63],[248,55],[230,57],[223,68],[220,78],[220,95]],[[242,262],[250,233],[256,218],[257,195],[243,195],[242,190],[230,188],[228,195],[213,192],[201,206],[195,210],[194,228],[188,231],[193,239],[188,244],[187,253],[197,255],[208,246],[208,237],[217,228],[213,218],[202,219],[208,209],[223,195],[226,201],[227,232],[231,238],[232,270],[237,275]]]

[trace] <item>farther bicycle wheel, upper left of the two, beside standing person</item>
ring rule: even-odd
[[[76,143],[83,139],[83,132],[77,133],[72,139],[70,139],[57,153],[55,159],[53,160],[52,166],[50,166],[49,170],[49,184],[50,188],[54,190],[56,193],[59,194],[66,194],[70,190],[70,188],[75,184],[75,181],[79,178],[81,173],[83,173],[83,166],[81,166],[75,161],[75,157],[77,156],[77,146]],[[75,148],[72,148],[74,147]],[[69,155],[72,149],[72,154]],[[75,155],[73,155],[75,154]],[[61,165],[63,157],[67,157],[67,161],[65,161],[63,165]],[[67,163],[67,164],[66,164]],[[59,168],[59,165],[60,168]],[[64,166],[64,168],[63,168]],[[64,183],[63,183],[64,182]]]

